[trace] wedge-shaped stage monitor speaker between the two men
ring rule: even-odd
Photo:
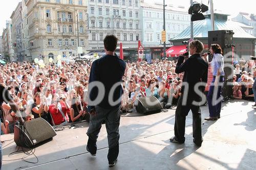
[[[163,109],[155,96],[139,98],[135,102],[135,108],[138,113],[142,114],[157,113]]]

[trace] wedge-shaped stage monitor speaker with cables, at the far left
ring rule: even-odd
[[[20,147],[34,148],[52,140],[56,135],[53,127],[41,117],[25,122],[24,126],[14,126],[14,141]]]

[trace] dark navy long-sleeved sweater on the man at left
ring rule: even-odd
[[[94,81],[99,81],[103,83],[105,88],[105,95],[103,100],[98,104],[98,106],[111,109],[120,105],[121,95],[123,93],[121,80],[124,75],[126,64],[123,60],[119,59],[117,56],[105,55],[98,60],[95,60],[91,67],[90,79],[89,79],[89,89],[90,83]],[[120,82],[120,85],[116,87],[113,95],[113,101],[116,102],[120,100],[119,104],[111,106],[109,103],[109,93],[114,84]],[[91,92],[89,91],[89,98],[94,101],[98,96],[98,89],[94,87]],[[94,108],[93,103],[89,103],[88,111]]]

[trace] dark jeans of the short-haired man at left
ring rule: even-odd
[[[119,124],[120,124],[120,106],[114,109],[104,109],[95,106],[96,113],[90,115],[90,124],[87,131],[89,137],[87,146],[91,153],[97,151],[96,141],[101,129],[101,124],[105,120],[106,132],[109,142],[109,163],[113,163],[119,154]]]

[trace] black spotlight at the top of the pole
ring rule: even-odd
[[[208,11],[208,6],[199,4],[198,2],[193,2],[188,9],[188,14],[192,15],[191,21],[203,20],[205,17],[202,13],[206,11]]]

